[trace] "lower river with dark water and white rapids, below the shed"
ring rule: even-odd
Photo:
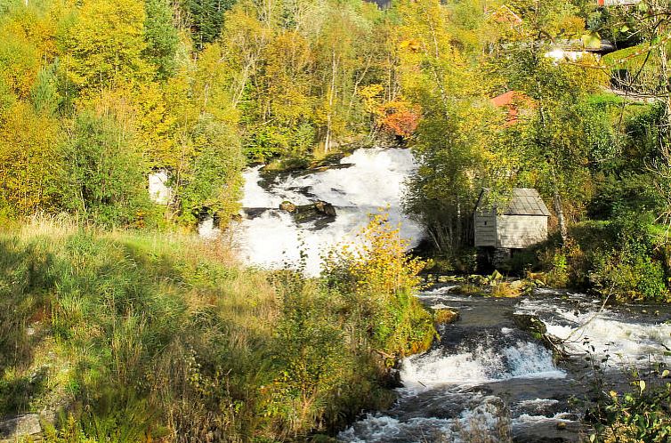
[[[588,352],[616,390],[627,386],[628,369],[670,362],[671,315],[659,312],[663,307],[602,310],[585,295],[550,291],[521,299],[468,297],[450,294],[449,286],[420,296],[429,307],[459,310],[460,319],[442,327],[433,350],[401,363],[404,387],[394,407],[367,415],[339,439],[458,442],[474,434],[477,441],[583,441],[589,429],[575,399],[588,398],[594,380]],[[566,342],[570,358],[556,364],[550,350],[515,326],[518,314],[538,316]]]

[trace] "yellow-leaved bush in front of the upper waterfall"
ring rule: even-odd
[[[427,350],[436,335],[431,315],[417,301],[424,262],[406,254],[385,213],[370,216],[360,246],[342,245],[324,260],[322,278],[344,300],[344,310],[360,325],[358,341],[399,357]]]

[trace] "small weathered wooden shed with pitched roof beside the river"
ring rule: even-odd
[[[538,190],[513,188],[503,211],[482,189],[473,214],[475,247],[484,260],[497,266],[515,251],[536,245],[547,238],[547,209]]]

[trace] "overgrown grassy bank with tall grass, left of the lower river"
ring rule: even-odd
[[[68,222],[5,230],[0,415],[54,411],[53,441],[336,431],[392,399],[381,355],[434,334],[411,287],[368,303],[377,288],[350,289],[244,269],[197,238]],[[368,329],[383,317],[384,335]]]

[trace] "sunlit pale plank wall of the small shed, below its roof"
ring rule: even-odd
[[[496,247],[521,249],[536,245],[547,239],[547,217],[544,215],[499,215],[496,232]]]

